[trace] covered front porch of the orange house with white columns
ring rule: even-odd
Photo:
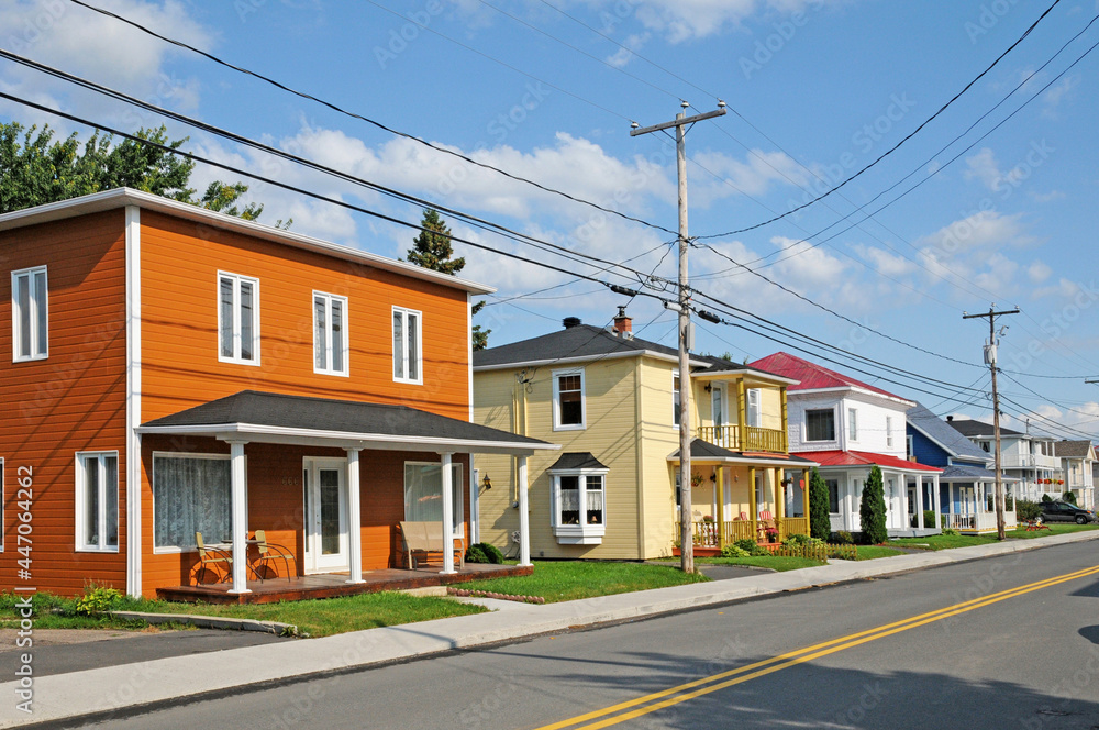
[[[528,456],[558,447],[403,406],[256,391],[148,421],[137,431],[146,478],[143,499],[130,504],[148,509],[152,519],[138,521],[141,539],[129,541],[138,566],[130,591],[193,588],[190,595],[241,601],[257,591],[321,597],[333,584],[363,593],[393,580],[459,579],[460,551],[477,534],[479,485],[470,455],[517,456],[525,501]],[[402,553],[401,521],[441,523],[437,571],[392,569]],[[276,561],[277,578],[262,584],[248,579],[256,558],[249,535],[259,529],[291,558],[285,567]],[[204,542],[222,543],[222,556],[233,558],[220,565],[227,575],[219,583],[207,577],[196,585],[202,576],[195,568],[204,567],[197,532]],[[525,520],[520,535],[520,567],[530,568]],[[480,571],[467,568],[463,575]]]

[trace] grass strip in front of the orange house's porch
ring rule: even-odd
[[[19,624],[19,617],[13,609],[14,599],[9,600],[9,598],[10,596],[3,596],[0,599],[0,628],[14,628]],[[34,626],[40,629],[134,629],[145,626],[143,622],[49,612],[49,608],[56,607],[71,613],[74,599],[40,594],[35,597],[35,602],[41,612],[35,618]],[[258,605],[169,604],[162,600],[123,599],[113,608],[148,613],[192,613],[278,621],[292,623],[299,631],[311,637],[430,621],[448,616],[481,613],[486,610],[481,606],[460,604],[446,598],[409,596],[401,593],[362,594],[322,600]]]

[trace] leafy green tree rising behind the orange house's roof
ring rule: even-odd
[[[168,140],[167,128],[163,125],[155,130],[140,129],[134,136],[171,150],[178,150],[188,139]],[[249,221],[264,210],[257,203],[238,206],[248,190],[242,182],[214,181],[206,193],[196,197],[196,190],[188,187],[193,162],[134,140],[113,142],[112,135],[101,136],[99,132],[82,144],[75,132],[57,141],[48,125],[40,130],[36,125],[27,129],[19,122],[0,122],[0,213],[119,187]]]

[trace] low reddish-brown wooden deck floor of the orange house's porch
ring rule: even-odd
[[[379,590],[409,590],[412,588],[430,588],[448,586],[467,580],[481,578],[502,578],[515,575],[530,575],[533,567],[518,565],[489,565],[467,563],[458,573],[440,575],[437,568],[421,568],[418,571],[365,571],[364,583],[346,583],[346,573],[326,573],[323,575],[299,575],[286,578],[270,578],[260,583],[248,580],[247,594],[231,594],[230,583],[204,583],[198,586],[175,586],[157,588],[157,598],[163,600],[206,604],[274,604],[280,600],[310,600],[313,598],[335,598],[337,596],[355,596]]]

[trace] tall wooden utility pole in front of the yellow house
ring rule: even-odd
[[[684,573],[695,572],[695,531],[691,524],[690,504],[690,290],[687,288],[687,131],[688,124],[712,119],[726,113],[725,102],[718,101],[718,109],[704,114],[687,117],[686,101],[680,103],[684,111],[676,114],[675,121],[639,128],[634,122],[630,136],[648,134],[675,128],[676,130],[676,169],[679,175],[679,555]],[[723,530],[725,526],[719,524]]]

